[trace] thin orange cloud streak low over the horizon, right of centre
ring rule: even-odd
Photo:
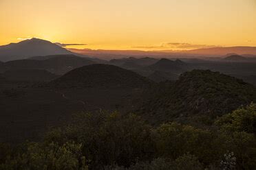
[[[211,48],[211,47],[220,47],[216,45],[197,45],[197,44],[190,44],[186,42],[165,42],[162,45],[156,46],[136,46],[132,48],[136,49],[202,49],[202,48]]]

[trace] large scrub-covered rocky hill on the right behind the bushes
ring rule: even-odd
[[[153,123],[191,121],[198,115],[214,119],[252,101],[256,101],[255,86],[218,72],[193,70],[161,88],[139,112]]]

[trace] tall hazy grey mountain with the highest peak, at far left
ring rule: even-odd
[[[58,45],[38,38],[23,40],[18,43],[0,46],[0,60],[21,60],[32,56],[49,56],[56,54],[71,54],[72,52]]]

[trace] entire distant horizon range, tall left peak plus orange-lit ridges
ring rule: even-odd
[[[191,58],[191,57],[222,57],[227,53],[235,53],[246,57],[256,55],[256,47],[213,47],[208,49],[193,50],[159,50],[159,51],[140,51],[140,50],[104,50],[104,49],[65,49],[47,40],[32,38],[18,43],[0,46],[0,61],[22,60],[34,56],[51,56],[58,54],[77,53],[81,57],[99,58],[100,63],[103,60],[114,58]],[[94,59],[96,60],[96,59]],[[138,63],[137,63],[138,64]]]

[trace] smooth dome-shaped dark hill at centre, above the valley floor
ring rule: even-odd
[[[48,85],[56,88],[142,88],[150,84],[150,80],[133,71],[113,65],[92,64],[74,69]]]

